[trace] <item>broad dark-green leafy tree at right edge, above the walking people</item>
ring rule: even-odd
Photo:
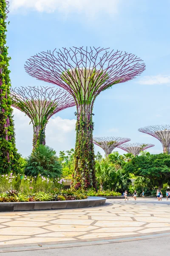
[[[137,176],[148,177],[161,189],[170,179],[170,155],[149,154],[134,157],[124,166],[125,171]]]

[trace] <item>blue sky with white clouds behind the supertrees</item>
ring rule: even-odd
[[[94,136],[131,138],[131,143],[161,143],[138,128],[170,124],[170,1],[164,0],[9,0],[7,44],[13,87],[50,84],[24,70],[30,56],[72,46],[111,47],[142,58],[141,76],[102,92],[94,105]],[[46,128],[46,143],[57,154],[74,148],[75,108],[55,115]],[[29,118],[14,110],[18,151],[32,149]],[[95,151],[104,152],[95,146]],[[116,149],[118,150],[118,149]],[[125,151],[118,150],[120,153]]]

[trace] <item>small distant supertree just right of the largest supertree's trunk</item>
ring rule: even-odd
[[[130,141],[129,138],[121,137],[95,137],[94,144],[98,145],[105,151],[106,157],[112,153],[113,149],[119,145]]]

